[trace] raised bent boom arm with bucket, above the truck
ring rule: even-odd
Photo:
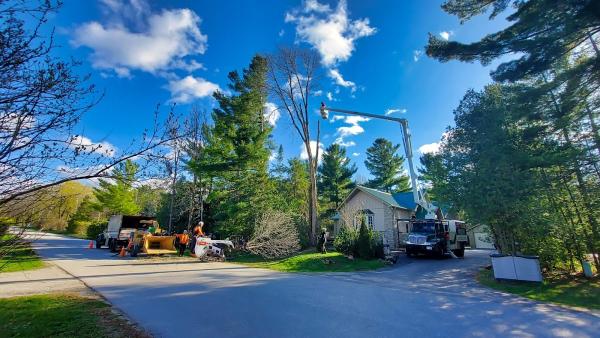
[[[388,121],[394,121],[394,122],[400,123],[400,126],[402,128],[402,143],[404,145],[404,153],[406,154],[406,159],[408,161],[408,172],[410,175],[410,183],[411,183],[412,191],[413,191],[413,199],[414,199],[415,203],[417,203],[423,209],[425,209],[425,211],[427,211],[427,215],[425,216],[425,218],[428,218],[428,219],[437,218],[436,213],[435,213],[435,207],[431,203],[429,203],[429,201],[427,201],[427,199],[425,198],[425,195],[421,192],[421,190],[419,189],[419,186],[417,184],[417,174],[415,172],[415,168],[414,168],[414,164],[413,164],[412,140],[411,140],[410,130],[408,129],[408,120],[407,119],[383,116],[383,115],[376,115],[376,114],[370,114],[370,113],[361,113],[361,112],[356,112],[356,111],[351,111],[351,110],[346,110],[346,109],[328,108],[325,106],[324,103],[321,102],[321,117],[323,117],[324,119],[327,119],[328,111],[350,114],[350,115],[357,115],[357,116],[372,117],[374,119],[388,120]]]

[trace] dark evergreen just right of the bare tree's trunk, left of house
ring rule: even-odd
[[[318,189],[325,202],[327,214],[336,210],[353,188],[352,175],[356,165],[350,164],[346,149],[334,143],[325,149],[319,166]]]

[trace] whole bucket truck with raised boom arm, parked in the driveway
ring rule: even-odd
[[[321,117],[328,118],[328,112],[370,117],[388,120],[400,124],[402,130],[402,145],[408,162],[408,172],[412,186],[415,203],[426,213],[423,219],[412,218],[407,220],[410,224],[410,233],[405,242],[406,254],[412,256],[418,253],[436,254],[442,256],[450,254],[453,257],[462,257],[467,243],[465,223],[457,220],[444,220],[443,214],[436,206],[431,204],[417,184],[417,174],[413,164],[412,141],[408,120],[385,115],[356,112],[346,109],[329,108],[321,102]]]

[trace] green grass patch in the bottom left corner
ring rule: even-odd
[[[0,299],[0,337],[145,337],[110,306],[51,294]]]

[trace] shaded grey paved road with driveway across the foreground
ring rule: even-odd
[[[486,252],[403,258],[364,273],[305,275],[228,263],[115,258],[46,235],[45,258],[159,337],[599,337],[600,315],[477,286]]]

